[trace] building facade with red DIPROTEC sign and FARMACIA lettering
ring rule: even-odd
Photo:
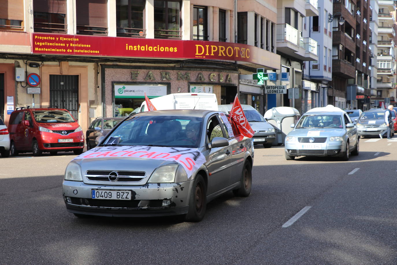
[[[145,92],[149,98],[210,92],[218,104],[233,102],[236,94],[242,100],[254,96],[263,112],[263,92],[240,91],[239,74],[280,68],[280,56],[274,45],[270,48],[276,39],[276,2],[1,4],[0,115],[6,122],[15,107],[52,105],[70,110],[86,130],[97,116],[128,114],[140,106]],[[237,15],[242,13],[247,14],[245,24],[237,23],[244,21]],[[251,24],[259,32],[252,34]],[[39,83],[28,78],[31,74],[39,76]],[[40,87],[40,94],[29,94],[28,87]]]

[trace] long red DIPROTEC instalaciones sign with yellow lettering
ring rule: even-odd
[[[189,58],[233,60],[256,64],[260,64],[267,58],[267,52],[255,46],[213,41],[33,33],[32,43],[33,54]]]

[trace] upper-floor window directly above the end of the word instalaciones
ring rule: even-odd
[[[178,1],[154,0],[154,38],[180,39],[181,3]]]

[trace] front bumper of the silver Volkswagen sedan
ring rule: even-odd
[[[321,145],[320,149],[303,149],[303,143],[287,143],[285,142],[285,152],[289,156],[343,156],[346,151],[345,141],[334,141],[326,143],[316,143]]]

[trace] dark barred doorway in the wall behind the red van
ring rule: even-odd
[[[50,105],[69,110],[79,118],[79,76],[50,75]]]

